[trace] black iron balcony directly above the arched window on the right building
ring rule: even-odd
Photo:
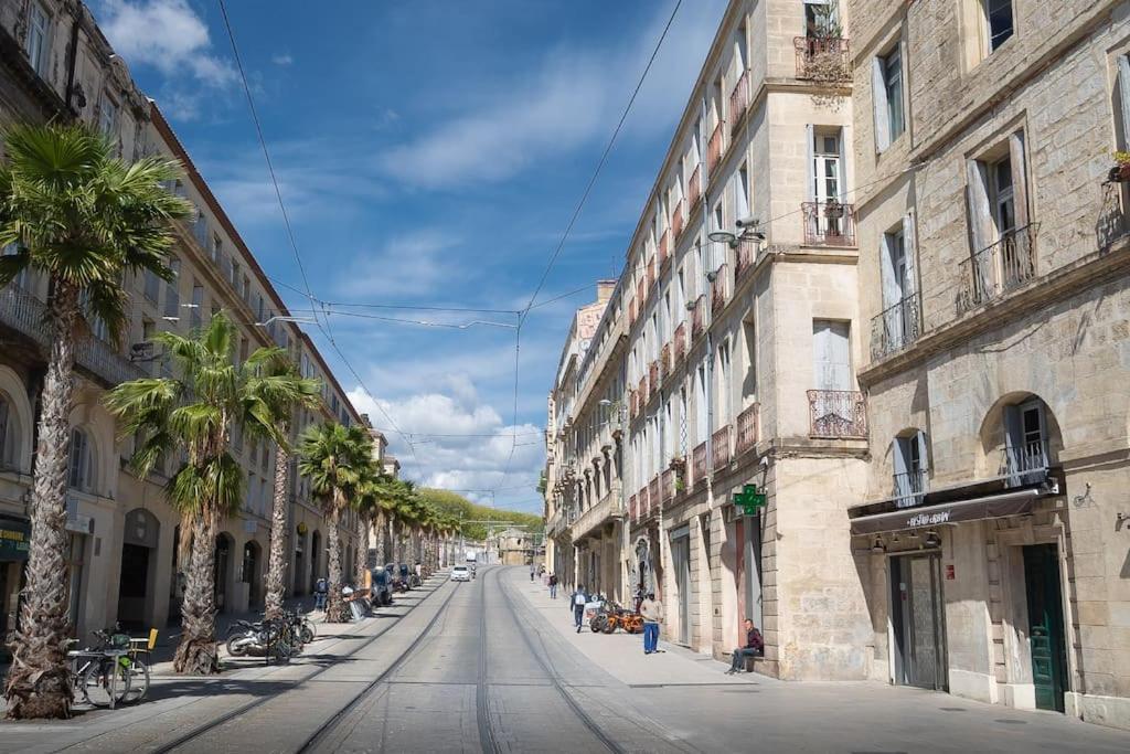
[[[1036,277],[1036,231],[1038,223],[1009,231],[1001,240],[963,261],[957,313],[1000,298]]]

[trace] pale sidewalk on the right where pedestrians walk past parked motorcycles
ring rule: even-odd
[[[683,647],[659,642],[655,655],[643,653],[643,634],[597,634],[582,626],[576,633],[568,595],[557,591],[557,599],[549,598],[549,588],[541,581],[514,579],[514,590],[521,593],[560,633],[562,638],[593,660],[601,669],[628,686],[718,686],[780,684],[776,678],[756,674],[725,675],[725,662],[698,655]]]

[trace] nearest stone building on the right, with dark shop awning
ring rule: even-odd
[[[869,676],[1130,728],[1130,3],[849,7]]]

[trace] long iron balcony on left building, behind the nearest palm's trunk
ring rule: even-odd
[[[0,323],[35,341],[42,348],[44,357],[51,346],[51,338],[44,324],[46,304],[15,283],[9,283],[0,289]],[[75,365],[106,385],[148,376],[141,366],[92,335],[76,338]]]

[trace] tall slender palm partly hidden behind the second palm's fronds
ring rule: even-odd
[[[282,442],[275,443],[275,499],[271,504],[271,544],[267,563],[267,597],[263,615],[277,618],[282,614],[282,577],[286,572],[286,537],[289,512],[288,489],[290,487],[290,418],[298,407],[313,408],[318,405],[322,390],[319,380],[303,379],[294,362],[280,355],[266,365],[267,375],[277,380],[262,380],[258,384],[263,392],[260,398],[270,408],[271,417]],[[296,390],[297,388],[297,390]],[[263,452],[267,452],[266,448]]]

